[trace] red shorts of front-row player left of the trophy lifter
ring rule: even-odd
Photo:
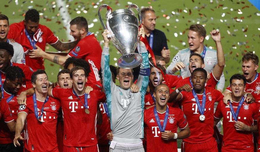
[[[98,145],[89,147],[68,147],[63,146],[63,152],[99,152]]]

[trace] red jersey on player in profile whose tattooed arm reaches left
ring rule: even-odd
[[[100,69],[102,48],[94,34],[81,39],[68,56],[86,60],[91,68],[87,83],[94,83],[101,86],[98,70]]]

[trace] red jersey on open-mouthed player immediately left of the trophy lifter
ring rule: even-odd
[[[85,113],[83,105],[85,95],[79,95],[80,101],[72,92],[72,88],[54,88],[52,89],[52,95],[61,101],[64,120],[63,145],[68,147],[96,145],[97,103],[106,100],[105,93],[93,90],[88,94],[89,114]]]

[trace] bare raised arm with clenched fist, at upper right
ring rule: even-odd
[[[212,30],[210,34],[217,46],[217,60],[218,60],[217,65],[214,67],[212,71],[212,74],[217,80],[219,80],[225,66],[225,56],[221,45],[221,36],[219,31]]]

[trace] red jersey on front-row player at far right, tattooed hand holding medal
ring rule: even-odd
[[[233,101],[233,109],[236,112],[239,102]],[[254,121],[257,120],[257,105],[256,103],[247,104],[246,101],[242,104],[238,121],[245,123],[248,126],[253,126]],[[219,102],[216,112],[214,114],[216,118],[223,117],[223,142],[221,151],[254,151],[253,133],[249,131],[237,131],[234,126],[234,118],[231,114],[229,105],[225,105],[224,102]]]

